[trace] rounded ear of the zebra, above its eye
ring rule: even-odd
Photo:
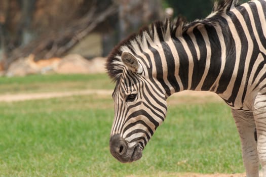
[[[128,52],[122,53],[122,61],[123,63],[132,71],[137,74],[141,74],[143,71],[143,68],[141,64],[138,62],[137,58],[134,57],[132,54]]]

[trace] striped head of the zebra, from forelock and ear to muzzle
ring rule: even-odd
[[[110,152],[121,162],[132,162],[141,158],[145,145],[165,119],[165,93],[139,55],[119,49],[108,57],[106,68],[116,81]]]

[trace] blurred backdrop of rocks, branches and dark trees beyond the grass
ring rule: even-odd
[[[99,57],[141,26],[178,15],[203,18],[212,6],[213,0],[0,0],[0,75],[104,72]]]

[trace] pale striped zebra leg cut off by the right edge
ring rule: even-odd
[[[266,92],[265,89],[264,92]],[[266,177],[266,94],[264,92],[262,90],[255,98],[253,115],[257,129],[258,158],[263,176]]]

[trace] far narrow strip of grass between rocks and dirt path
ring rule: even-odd
[[[52,74],[0,77],[0,94],[113,89],[107,74]]]

